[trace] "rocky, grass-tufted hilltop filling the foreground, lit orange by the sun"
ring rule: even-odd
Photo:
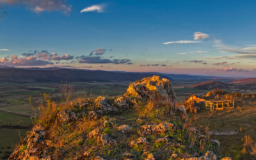
[[[198,131],[176,102],[168,79],[131,83],[120,97],[77,99],[45,105],[12,159],[230,160],[220,143]]]

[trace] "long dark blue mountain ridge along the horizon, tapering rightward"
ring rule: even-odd
[[[125,72],[125,71],[104,71],[104,70],[84,70],[78,68],[15,68],[8,66],[0,66],[0,82],[12,81],[19,83],[34,83],[34,82],[55,82],[60,81],[136,81],[143,77],[150,77],[158,75],[164,78],[175,80],[188,80],[188,79],[225,79],[230,77],[218,77],[218,76],[201,76],[201,75],[189,75],[189,74],[163,74],[159,72]]]

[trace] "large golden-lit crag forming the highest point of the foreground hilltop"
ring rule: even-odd
[[[160,79],[159,76],[147,77],[131,83],[125,97],[132,96],[142,99],[146,97],[157,102],[176,104],[176,95],[168,79]]]

